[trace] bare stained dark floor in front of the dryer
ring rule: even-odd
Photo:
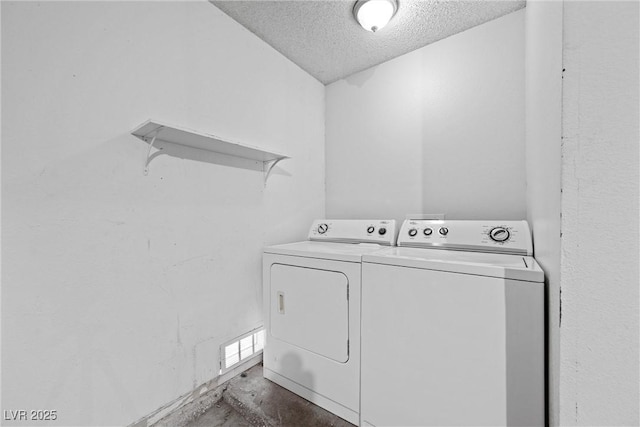
[[[177,411],[157,427],[353,427],[342,418],[266,380],[255,365],[211,392],[213,404],[199,413]]]

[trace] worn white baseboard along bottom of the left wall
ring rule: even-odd
[[[222,398],[224,383],[236,375],[262,362],[262,353],[242,361],[235,368],[196,387],[172,402],[130,424],[129,427],[172,426],[184,427],[215,405]]]

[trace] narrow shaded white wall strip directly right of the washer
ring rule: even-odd
[[[558,425],[562,1],[529,0],[526,14],[527,220],[547,287],[547,411]]]

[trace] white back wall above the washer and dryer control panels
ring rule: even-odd
[[[524,219],[524,10],[327,86],[327,216]]]

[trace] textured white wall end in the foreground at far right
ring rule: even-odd
[[[561,425],[638,425],[638,2],[564,4]]]

